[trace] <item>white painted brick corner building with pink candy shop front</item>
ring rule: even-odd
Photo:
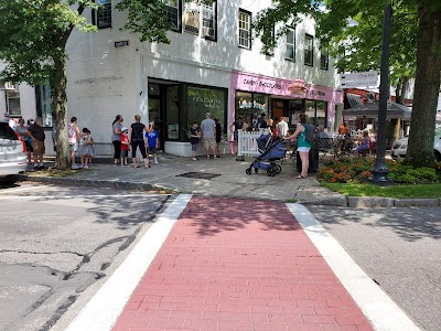
[[[154,120],[162,147],[181,156],[190,153],[185,130],[206,111],[219,118],[228,140],[238,115],[252,124],[261,113],[291,120],[306,111],[334,129],[343,94],[312,20],[290,28],[271,53],[262,54],[250,23],[269,0],[212,6],[168,0],[175,26],[168,34],[170,44],[141,43],[139,35],[121,32],[127,13],[115,9],[117,2],[86,11],[99,30],[75,32],[67,44],[68,117],[90,129],[97,153],[111,153],[111,122],[118,114],[127,127],[136,114],[143,122]]]

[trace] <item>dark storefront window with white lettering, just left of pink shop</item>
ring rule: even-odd
[[[205,119],[205,113],[212,114],[212,119],[219,118],[220,127],[225,132],[226,117],[225,89],[203,88],[189,86],[187,88],[187,118],[186,130],[193,126],[193,121],[201,124]]]

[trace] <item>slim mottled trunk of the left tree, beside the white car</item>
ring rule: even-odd
[[[54,76],[52,78],[52,109],[56,125],[56,160],[55,167],[61,170],[71,168],[69,145],[67,141],[67,95],[65,58],[54,58]]]

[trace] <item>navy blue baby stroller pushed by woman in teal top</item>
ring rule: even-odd
[[[254,168],[256,173],[259,169],[266,170],[269,177],[280,173],[282,167],[275,161],[283,159],[287,154],[283,140],[279,137],[273,139],[271,135],[261,135],[256,139],[256,142],[260,156],[256,158],[245,172],[251,174],[251,168]]]

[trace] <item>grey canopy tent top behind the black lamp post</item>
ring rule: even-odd
[[[378,117],[378,107],[379,102],[367,103],[364,105],[358,105],[348,109],[343,110],[343,116],[356,116],[356,117],[365,117],[365,118],[377,118]],[[412,110],[408,107],[402,106],[397,103],[387,103],[387,118],[401,118],[401,119],[410,119]]]

